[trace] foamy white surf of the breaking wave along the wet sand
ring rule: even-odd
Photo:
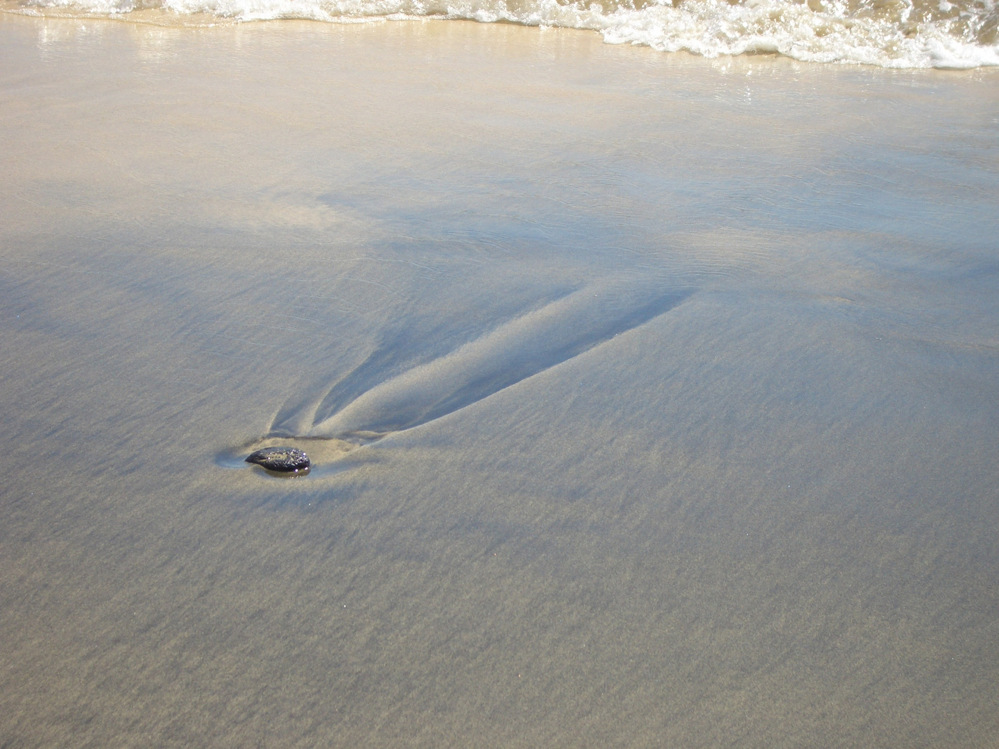
[[[4,7],[185,25],[447,18],[590,29],[612,44],[709,58],[777,53],[886,68],[999,65],[993,0],[5,0]]]

